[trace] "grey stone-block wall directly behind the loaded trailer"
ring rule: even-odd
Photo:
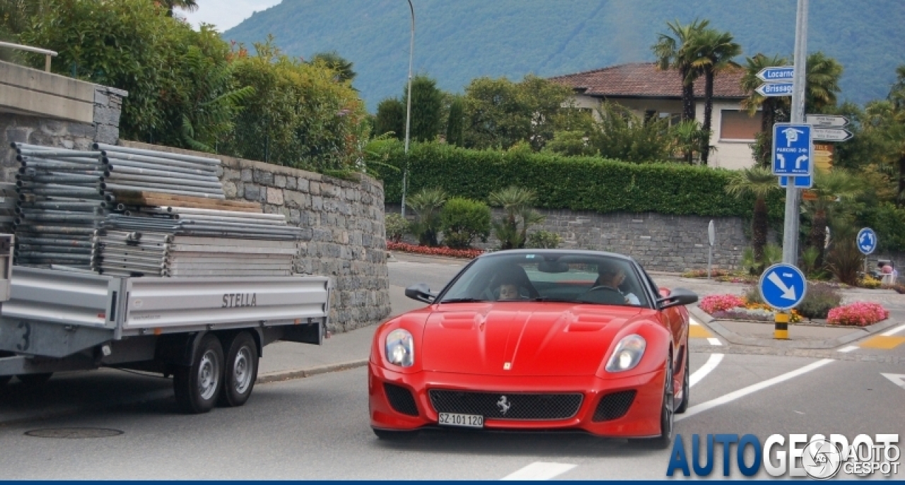
[[[210,154],[120,141],[127,147]],[[216,156],[223,160],[228,199],[260,202],[304,228],[295,271],[333,278],[329,329],[348,331],[379,323],[390,313],[386,268],[384,187],[367,176],[340,180],[286,166]]]

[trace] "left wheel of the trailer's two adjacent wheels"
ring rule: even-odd
[[[220,340],[207,334],[198,344],[191,366],[176,367],[173,391],[176,404],[187,414],[207,413],[214,408],[223,387],[224,349]]]

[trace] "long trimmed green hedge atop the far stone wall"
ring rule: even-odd
[[[389,165],[403,166],[405,151],[395,140],[368,150]],[[508,185],[530,188],[538,207],[705,217],[750,217],[753,198],[726,195],[729,170],[678,163],[631,164],[598,157],[560,157],[528,150],[471,150],[438,143],[409,148],[408,194],[442,187],[449,195],[476,200]],[[376,167],[384,179],[386,203],[402,199],[402,172]],[[769,200],[771,217],[782,218],[781,195]]]

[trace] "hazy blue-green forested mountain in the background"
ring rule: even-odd
[[[789,56],[795,0],[412,0],[414,72],[462,92],[480,76],[518,81],[623,62],[652,61],[650,46],[666,22],[706,18],[732,33],[745,55]],[[901,0],[810,2],[808,52],[842,62],[840,100],[884,98],[905,64]],[[336,51],[354,62],[355,87],[376,109],[401,97],[408,73],[411,17],[405,0],[283,0],[224,38],[261,42],[272,34],[284,52],[310,58]],[[744,58],[739,58],[744,62]]]

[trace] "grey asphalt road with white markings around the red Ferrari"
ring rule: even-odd
[[[439,290],[461,266],[405,258],[390,264],[390,280],[395,286],[424,281]],[[891,338],[881,342],[885,347],[863,339],[813,356],[694,338],[691,407],[676,433],[690,458],[694,433],[751,433],[761,443],[774,433],[842,433],[850,440],[862,433],[899,433],[905,441],[905,381],[900,385],[896,377],[905,379],[905,366],[876,361],[905,357],[905,345],[890,345],[905,338],[905,328],[885,337]],[[368,427],[365,376],[359,367],[257,385],[245,406],[204,415],[177,414],[169,383],[158,377],[114,371],[54,377],[18,405],[65,414],[0,424],[0,480],[665,478],[670,450],[584,434],[450,430],[421,433],[409,442],[379,441]],[[67,412],[55,396],[73,392],[135,399],[106,410]],[[4,405],[0,410],[10,411]],[[122,433],[26,434],[59,428]],[[741,478],[734,452],[732,458],[732,474]],[[719,448],[714,459],[712,474],[719,476]],[[905,478],[905,471],[896,478]]]

